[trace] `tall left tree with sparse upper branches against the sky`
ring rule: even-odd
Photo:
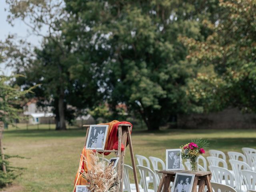
[[[38,105],[52,106],[56,114],[56,130],[66,129],[69,122],[79,114],[86,113],[98,98],[98,86],[94,80],[91,64],[81,62],[72,50],[72,45],[64,41],[62,28],[68,20],[61,0],[6,0],[10,5],[8,21],[21,19],[31,30],[30,33],[42,36],[41,48],[11,49],[8,56],[13,58],[9,63],[16,67],[16,72],[26,78],[17,82],[27,88],[40,84],[34,95]],[[68,22],[67,22],[68,23]],[[46,33],[41,30],[47,29]],[[10,47],[15,47],[9,41]],[[19,42],[18,45],[26,44]],[[24,54],[29,52],[29,58]],[[18,54],[17,54],[18,53]]]

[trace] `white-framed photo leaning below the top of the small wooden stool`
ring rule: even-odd
[[[192,192],[194,174],[176,173],[172,192]]]

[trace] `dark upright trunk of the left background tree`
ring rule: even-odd
[[[58,99],[59,118],[56,119],[56,130],[66,130],[64,109],[64,94],[60,94],[60,97]]]

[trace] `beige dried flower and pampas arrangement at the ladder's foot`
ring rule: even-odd
[[[106,161],[99,160],[98,153],[90,154],[91,161],[88,162],[84,156],[86,167],[91,167],[88,172],[80,172],[82,177],[88,182],[90,192],[115,192],[118,186],[116,182],[117,173],[112,164],[106,164]],[[90,163],[90,166],[88,165]]]

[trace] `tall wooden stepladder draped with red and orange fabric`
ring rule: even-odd
[[[86,138],[85,138],[85,144],[88,138],[88,132],[90,125],[83,125],[83,127],[86,127]],[[130,154],[132,159],[132,168],[133,168],[133,175],[134,175],[134,181],[136,186],[136,192],[139,192],[139,185],[138,185],[138,178],[137,178],[137,172],[136,172],[136,165],[134,160],[134,154],[133,154],[133,148],[132,148],[132,138],[131,138],[131,125],[130,124],[119,124],[118,125],[118,150],[97,150],[97,152],[114,152],[117,154],[117,157],[119,157],[119,161],[117,164],[117,182],[119,183],[119,187],[117,188],[116,192],[123,192],[123,172],[124,172],[124,157],[125,157],[125,151],[126,146],[129,144],[130,148]],[[127,140],[128,139],[128,140]],[[124,150],[121,150],[122,144],[124,145]]]

